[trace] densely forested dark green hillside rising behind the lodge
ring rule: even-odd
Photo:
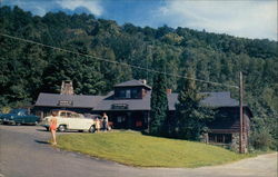
[[[254,29],[256,30],[256,29]],[[39,92],[59,92],[61,80],[73,80],[76,94],[101,95],[115,83],[147,78],[153,72],[99,60],[119,61],[142,68],[238,85],[245,75],[247,104],[257,116],[278,110],[277,41],[244,39],[188,28],[158,29],[117,24],[92,14],[63,12],[32,16],[18,7],[0,9],[0,33],[86,53],[78,56],[0,36],[0,106],[32,104]],[[178,91],[178,77],[167,76],[168,88]],[[237,89],[198,82],[200,91]]]

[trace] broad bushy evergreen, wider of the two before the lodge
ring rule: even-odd
[[[187,78],[195,78],[189,70]],[[197,94],[195,80],[182,79],[179,92],[179,104],[176,105],[177,130],[176,136],[181,139],[199,140],[207,130],[206,122],[212,118],[212,111],[200,105],[201,96]]]

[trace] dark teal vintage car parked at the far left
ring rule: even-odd
[[[12,109],[9,114],[1,115],[2,124],[12,125],[38,125],[40,118],[31,115],[28,109]]]

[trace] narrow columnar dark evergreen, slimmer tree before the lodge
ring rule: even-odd
[[[165,76],[156,75],[150,100],[150,134],[167,134],[168,99],[166,94]]]

